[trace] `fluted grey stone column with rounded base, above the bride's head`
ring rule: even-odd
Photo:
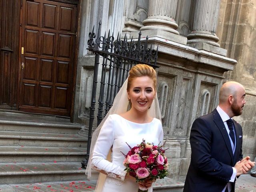
[[[177,5],[178,0],[149,0],[148,18],[142,22],[144,26],[140,30],[159,29],[178,35],[174,20]]]

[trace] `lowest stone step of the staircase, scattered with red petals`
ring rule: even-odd
[[[0,184],[67,181],[70,178],[73,180],[85,178],[85,170],[81,168],[81,162],[0,163]]]

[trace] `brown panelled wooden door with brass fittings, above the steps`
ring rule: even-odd
[[[19,109],[70,115],[77,5],[23,0]]]

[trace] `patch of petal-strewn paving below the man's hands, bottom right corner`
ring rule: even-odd
[[[256,178],[247,175],[241,175],[236,180],[236,192],[256,192]]]

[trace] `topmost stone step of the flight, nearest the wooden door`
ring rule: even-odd
[[[2,120],[0,130],[23,132],[48,132],[58,134],[77,134],[82,128],[80,124],[68,122],[28,122],[19,120]]]

